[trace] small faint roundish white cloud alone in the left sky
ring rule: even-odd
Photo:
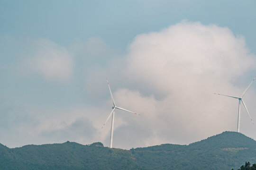
[[[33,41],[27,58],[22,62],[27,72],[36,73],[46,80],[69,82],[73,74],[73,59],[65,47],[48,39]]]

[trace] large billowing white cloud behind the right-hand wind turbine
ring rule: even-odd
[[[136,110],[141,118],[120,116],[124,123],[116,129],[115,147],[189,144],[236,131],[237,101],[213,93],[241,95],[246,87],[231,83],[255,64],[242,36],[228,28],[182,21],[138,35],[129,46],[126,63],[118,82],[128,79],[137,91],[118,89],[114,97],[120,107]],[[246,116],[243,121],[250,123]],[[130,140],[119,131],[124,126]]]

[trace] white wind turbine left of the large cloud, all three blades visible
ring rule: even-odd
[[[110,89],[110,84],[109,84],[109,81],[107,79],[107,83],[108,83],[108,86],[109,86],[109,89]],[[105,124],[107,123],[107,121],[110,119],[110,116],[112,115],[112,122],[111,122],[111,132],[110,132],[110,148],[112,148],[112,143],[113,143],[113,130],[114,130],[114,117],[115,117],[115,109],[119,109],[119,110],[124,110],[124,111],[128,111],[130,113],[134,113],[136,115],[140,115],[140,114],[137,114],[133,111],[129,111],[129,110],[126,110],[126,109],[123,109],[123,108],[120,108],[120,107],[117,107],[116,106],[116,103],[114,101],[114,98],[113,98],[113,95],[112,95],[112,92],[110,90],[110,95],[111,95],[111,99],[112,99],[112,102],[113,102],[113,107],[112,107],[112,111],[108,117],[108,119],[105,121],[105,123],[103,124],[103,126],[101,128],[103,128],[105,126]]]

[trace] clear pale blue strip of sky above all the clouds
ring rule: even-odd
[[[256,2],[247,0],[131,0],[44,2],[1,0],[1,34],[50,38],[61,45],[101,37],[124,51],[137,34],[158,31],[182,19],[229,27],[255,52]],[[123,34],[125,33],[125,34]]]

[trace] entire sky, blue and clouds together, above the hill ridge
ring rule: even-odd
[[[190,144],[237,130],[256,1],[0,0],[0,143]],[[256,84],[243,98],[256,122]],[[240,132],[256,140],[241,107]]]

